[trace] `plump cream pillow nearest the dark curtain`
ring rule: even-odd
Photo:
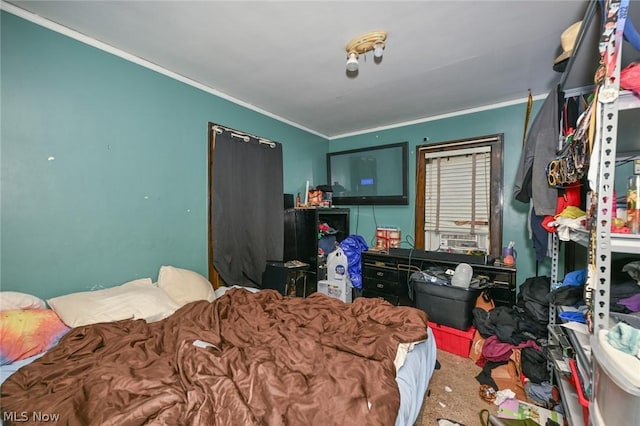
[[[158,274],[158,287],[180,306],[196,300],[213,302],[216,294],[213,286],[205,277],[188,269],[173,266],[161,266]]]

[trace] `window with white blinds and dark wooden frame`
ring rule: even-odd
[[[418,248],[500,256],[502,143],[493,135],[418,147]]]

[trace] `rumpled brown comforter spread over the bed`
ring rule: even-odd
[[[0,405],[5,424],[393,425],[396,349],[425,326],[381,299],[231,289],[156,323],[72,329],[2,385]]]

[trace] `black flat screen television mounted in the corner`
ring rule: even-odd
[[[408,142],[327,153],[335,205],[409,204]]]

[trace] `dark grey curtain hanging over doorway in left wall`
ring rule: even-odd
[[[259,286],[284,247],[282,145],[211,126],[213,266],[226,285]]]

